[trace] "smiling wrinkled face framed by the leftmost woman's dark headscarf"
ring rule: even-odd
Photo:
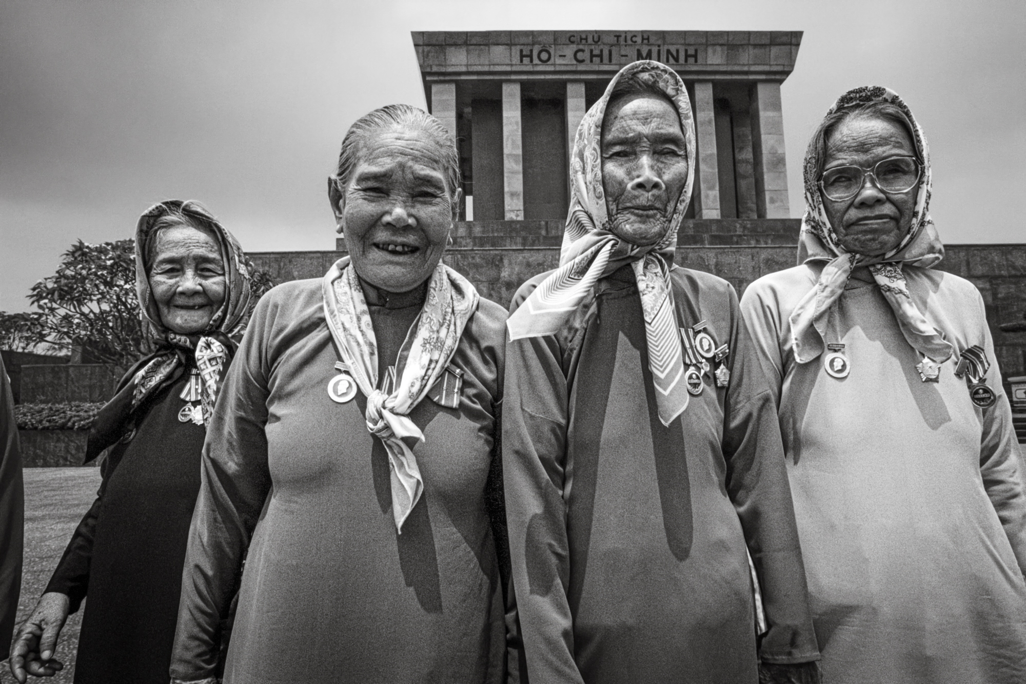
[[[150,289],[160,320],[180,335],[203,332],[225,303],[225,265],[218,241],[191,226],[157,233]]]

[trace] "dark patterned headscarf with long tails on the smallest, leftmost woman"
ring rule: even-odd
[[[183,215],[191,224],[209,230],[216,236],[221,248],[225,302],[198,335],[179,335],[168,330],[160,318],[150,289],[147,255],[157,236],[154,231],[156,223],[167,214]],[[203,424],[206,425],[218,397],[222,370],[235,353],[238,346],[236,340],[245,332],[251,309],[249,268],[242,248],[203,206],[179,199],[154,204],[140,217],[135,228],[135,294],[145,332],[155,350],[125,374],[114,397],[101,409],[89,432],[86,462],[128,431],[135,410],[161,387],[174,382],[189,364],[190,356],[195,359],[202,381],[200,405]]]

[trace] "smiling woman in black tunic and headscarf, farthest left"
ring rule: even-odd
[[[86,461],[108,450],[96,500],[22,628],[10,667],[48,677],[70,612],[88,596],[77,684],[167,682],[200,451],[249,312],[235,238],[196,202],[151,207],[135,232],[135,284],[156,351],[101,410]]]

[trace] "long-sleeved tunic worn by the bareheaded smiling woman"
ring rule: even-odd
[[[376,303],[394,364],[422,299]],[[459,408],[409,417],[424,494],[398,534],[389,462],[362,393],[331,400],[339,356],[321,281],[265,295],[225,380],[204,447],[171,676],[211,677],[241,574],[225,681],[499,682],[503,591],[485,510],[501,401],[506,311],[482,299],[451,359]],[[381,374],[380,374],[381,376]]]

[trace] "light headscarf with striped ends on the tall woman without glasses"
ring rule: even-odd
[[[624,91],[625,85],[668,98],[680,117],[687,146],[687,182],[673,208],[666,234],[647,246],[630,244],[610,231],[602,188],[602,121],[610,98]],[[554,335],[592,295],[599,278],[631,264],[644,314],[648,368],[656,386],[659,419],[669,425],[687,407],[688,397],[670,287],[670,263],[695,180],[695,122],[687,90],[677,73],[650,61],[634,62],[621,69],[605,93],[581,120],[574,142],[570,176],[570,208],[560,266],[509,317],[510,339]]]

